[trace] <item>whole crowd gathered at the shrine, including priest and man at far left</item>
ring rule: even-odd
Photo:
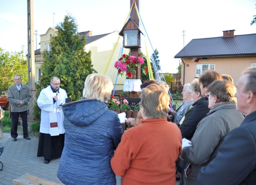
[[[17,141],[19,115],[29,140],[25,112],[31,95],[20,75],[14,81],[7,94],[12,140]],[[145,81],[137,118],[127,119],[132,127],[124,133],[105,102],[113,90],[109,77],[88,75],[83,97],[73,102],[66,102],[60,83],[53,77],[37,100],[37,157],[45,164],[61,157],[57,179],[62,184],[114,185],[116,175],[122,185],[174,185],[177,178],[180,185],[255,184],[256,67],[243,72],[237,88],[230,75],[206,70],[184,84],[176,111],[167,85]]]

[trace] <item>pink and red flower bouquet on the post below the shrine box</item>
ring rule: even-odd
[[[143,57],[140,57],[140,54],[138,58],[135,56],[123,54],[122,57],[114,63],[114,67],[118,69],[118,74],[120,74],[121,76],[125,74],[128,79],[131,79],[133,78],[132,72],[135,72],[135,67],[138,67],[139,64],[143,63],[144,59]],[[144,74],[147,73],[148,68],[144,67],[142,69],[142,72]]]

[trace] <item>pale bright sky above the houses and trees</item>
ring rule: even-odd
[[[255,4],[256,0],[139,0],[151,43],[147,48],[157,48],[163,73],[176,73],[180,59],[174,56],[191,39],[221,37],[226,30],[236,30],[235,35],[256,33],[256,25],[250,26]],[[76,18],[78,32],[92,31],[94,36],[121,31],[129,10],[130,0],[34,0],[35,50],[40,48],[40,35],[68,13]],[[27,1],[0,0],[0,47],[19,52],[22,46],[27,51]]]

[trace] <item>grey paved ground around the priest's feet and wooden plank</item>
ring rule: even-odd
[[[4,168],[0,171],[1,185],[14,185],[13,179],[24,174],[34,175],[55,183],[59,159],[51,160],[49,164],[43,164],[43,157],[36,157],[38,138],[26,140],[22,136],[17,137],[17,141],[12,141],[10,133],[4,133],[4,139],[0,141],[0,147],[4,147],[4,152],[0,156],[0,161]],[[121,177],[117,176],[117,185],[120,185]],[[176,183],[178,185],[178,181]]]

